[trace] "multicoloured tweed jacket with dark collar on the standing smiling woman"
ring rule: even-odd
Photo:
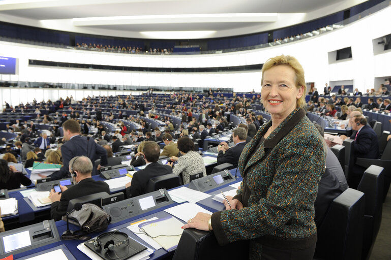
[[[260,259],[262,244],[303,249],[317,240],[314,201],[325,146],[305,111],[295,109],[250,157],[271,125],[260,127],[239,158],[244,180],[234,199],[244,208],[212,215],[218,242],[249,239],[250,259]]]

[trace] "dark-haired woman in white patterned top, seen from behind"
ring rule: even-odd
[[[194,142],[189,137],[181,137],[178,139],[178,150],[182,154],[181,157],[171,156],[170,160],[178,161],[172,173],[179,175],[182,173],[183,184],[190,182],[190,175],[202,173],[206,176],[204,161],[198,152],[194,150]],[[173,163],[168,163],[172,167]]]

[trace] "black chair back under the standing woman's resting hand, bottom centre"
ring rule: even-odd
[[[220,246],[213,232],[186,229],[179,240],[172,260],[248,259],[248,247],[247,240]],[[237,250],[232,250],[232,248]]]

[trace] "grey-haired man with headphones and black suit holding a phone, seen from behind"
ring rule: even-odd
[[[64,147],[64,146],[63,146]],[[53,202],[50,205],[50,217],[55,221],[67,214],[70,200],[98,192],[110,194],[109,185],[103,181],[95,181],[91,174],[93,163],[86,156],[76,156],[69,161],[68,171],[72,173],[74,186],[68,188],[59,185],[62,193],[57,193],[52,189],[49,199]]]

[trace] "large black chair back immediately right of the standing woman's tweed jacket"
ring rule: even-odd
[[[364,231],[365,194],[348,188],[338,196],[318,229],[314,259],[360,259]]]

